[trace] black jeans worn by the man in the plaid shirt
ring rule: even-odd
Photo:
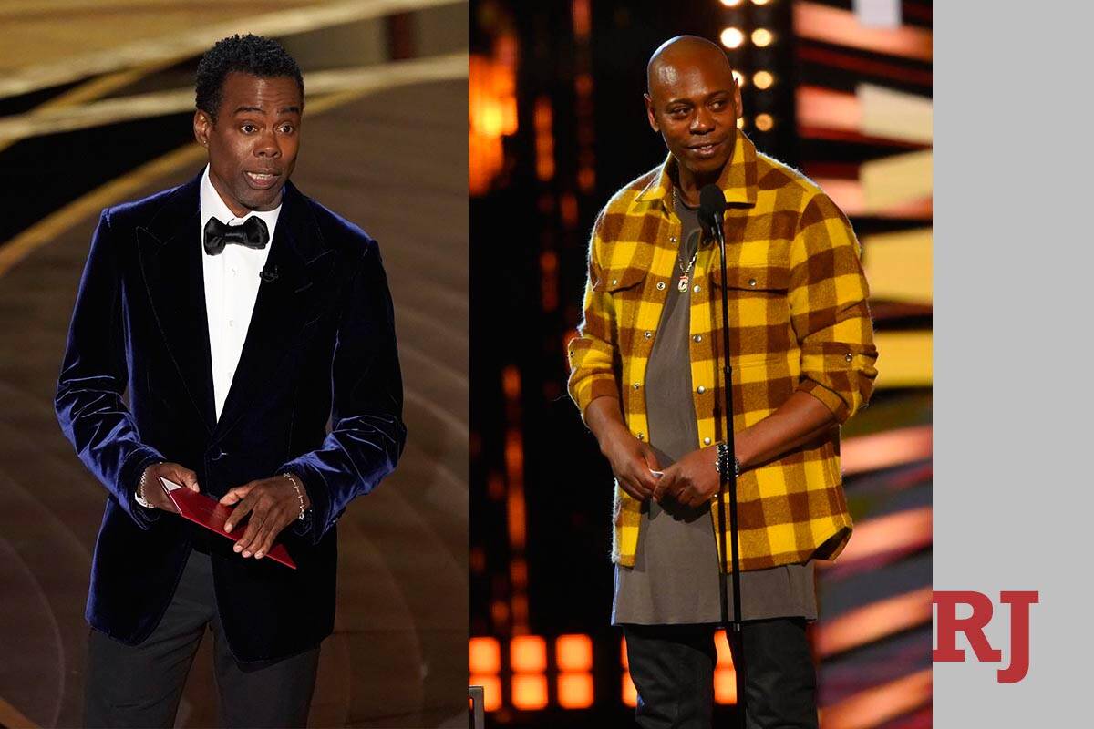
[[[642,729],[710,729],[713,625],[624,625]],[[742,623],[748,729],[817,729],[816,672],[800,618]],[[736,658],[736,657],[734,657]],[[740,663],[741,661],[738,661]]]

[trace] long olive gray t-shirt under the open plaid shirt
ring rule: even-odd
[[[695,285],[706,282],[695,280],[693,266],[687,290],[682,292],[677,287],[682,268],[688,266],[698,250],[700,228],[696,209],[676,207],[683,224],[680,250],[645,374],[650,445],[662,468],[695,450],[699,443],[691,398],[689,311]],[[641,518],[635,566],[616,566],[612,624],[719,622],[719,554],[710,505],[693,509],[668,501],[662,504],[650,501],[643,506]],[[731,585],[726,580],[726,604],[732,620]],[[743,620],[816,620],[813,564],[741,573],[741,601]]]

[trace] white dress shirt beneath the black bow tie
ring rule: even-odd
[[[217,420],[224,409],[228,390],[232,387],[235,368],[240,364],[240,354],[247,338],[251,326],[251,315],[255,310],[255,298],[258,296],[258,285],[261,283],[258,274],[266,266],[270,255],[270,243],[277,219],[281,214],[281,205],[274,210],[252,211],[243,217],[236,217],[217,188],[209,180],[209,166],[206,165],[201,175],[201,231],[198,245],[201,246],[201,271],[205,275],[206,314],[209,324],[209,354],[212,357],[212,391],[217,405]],[[257,215],[266,223],[270,232],[270,243],[265,248],[247,248],[240,245],[228,245],[217,256],[205,252],[205,225],[210,217],[216,217],[228,225],[242,225],[252,215]]]

